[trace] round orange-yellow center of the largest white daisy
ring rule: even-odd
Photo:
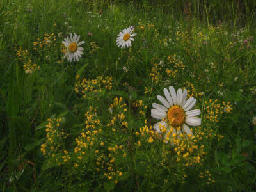
[[[180,126],[184,123],[185,113],[179,106],[172,106],[167,113],[168,121],[173,127]]]

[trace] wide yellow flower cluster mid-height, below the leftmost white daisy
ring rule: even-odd
[[[77,81],[76,83],[76,92],[81,93],[84,98],[90,96],[90,93],[100,93],[102,89],[111,90],[113,87],[112,77],[103,78],[102,76],[98,76],[96,79],[87,80],[83,79],[83,81]]]

